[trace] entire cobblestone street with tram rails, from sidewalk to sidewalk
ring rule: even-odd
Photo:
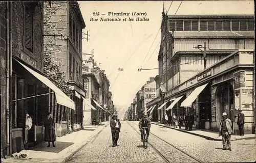
[[[117,147],[112,147],[110,127],[78,151],[68,162],[165,162],[151,147],[141,148],[138,122],[122,122]],[[201,162],[246,162],[255,160],[255,140],[232,141],[232,151],[222,150],[221,141],[208,141],[188,133],[152,125],[151,133],[173,144]],[[150,135],[149,142],[169,162],[197,162],[164,141]]]

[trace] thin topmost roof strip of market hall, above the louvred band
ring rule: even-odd
[[[167,15],[169,18],[254,18],[250,14],[229,14],[229,15]]]

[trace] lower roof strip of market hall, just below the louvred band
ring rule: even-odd
[[[254,38],[254,31],[175,31],[174,38]]]

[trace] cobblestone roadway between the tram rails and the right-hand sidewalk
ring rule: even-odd
[[[138,122],[135,123],[137,126]],[[222,141],[209,141],[192,134],[152,125],[151,133],[193,155],[202,162],[249,162],[255,161],[255,140],[231,141],[232,151],[222,150]],[[232,137],[232,136],[231,136]],[[154,142],[154,136],[150,142]]]

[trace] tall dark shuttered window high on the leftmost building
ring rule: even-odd
[[[33,52],[33,11],[28,6],[25,8],[25,47]]]

